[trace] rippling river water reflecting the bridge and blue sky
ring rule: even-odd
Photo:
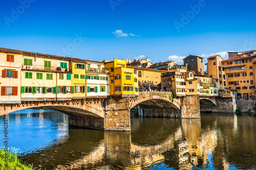
[[[201,119],[131,115],[131,132],[113,132],[71,128],[68,115],[54,110],[10,113],[9,147],[38,169],[256,168],[253,113]],[[4,145],[3,120],[0,116]]]

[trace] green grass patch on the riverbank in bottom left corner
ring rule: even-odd
[[[32,166],[23,164],[19,159],[17,154],[13,154],[11,152],[7,153],[8,155],[8,165],[6,166],[5,157],[6,152],[3,149],[0,149],[0,169],[8,169],[8,170],[34,170]]]

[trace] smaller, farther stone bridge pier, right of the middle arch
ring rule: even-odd
[[[184,96],[181,106],[181,118],[200,118],[199,95]]]

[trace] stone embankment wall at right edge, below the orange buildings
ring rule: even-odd
[[[246,111],[254,111],[255,112],[255,104],[256,99],[237,99],[237,108],[240,109],[242,112]]]

